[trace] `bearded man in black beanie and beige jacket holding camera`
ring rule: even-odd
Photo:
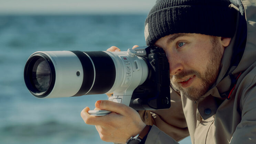
[[[193,144],[256,143],[255,8],[253,0],[158,0],[145,38],[166,51],[171,108],[138,114],[97,101],[97,109],[112,113],[93,117],[86,107],[85,123],[96,125],[107,142],[126,143],[140,134],[146,144],[177,143],[188,135]]]

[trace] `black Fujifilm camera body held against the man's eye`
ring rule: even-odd
[[[132,93],[130,107],[135,110],[170,108],[170,73],[166,53],[160,47],[135,48],[136,56],[143,57],[149,69],[147,80]]]

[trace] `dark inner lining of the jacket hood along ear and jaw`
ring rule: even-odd
[[[212,95],[217,98],[227,96],[227,92],[231,90],[232,79],[230,75],[237,77],[239,72],[248,68],[255,60],[248,63],[248,53],[246,52],[247,42],[247,23],[245,18],[245,9],[242,1],[231,0],[231,7],[239,10],[237,13],[236,32],[231,39],[230,45],[225,47],[220,65],[220,73],[216,82],[202,98]],[[254,58],[255,59],[255,58]]]

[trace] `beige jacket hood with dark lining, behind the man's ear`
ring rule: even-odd
[[[236,32],[230,45],[225,48],[215,84],[203,97],[227,97],[232,87],[232,79],[256,61],[256,3],[253,0],[230,1],[230,7],[237,10]]]

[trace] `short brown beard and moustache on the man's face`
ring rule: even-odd
[[[186,98],[192,101],[199,101],[202,96],[209,90],[209,88],[214,84],[217,79],[219,70],[220,70],[220,63],[223,56],[221,52],[222,45],[218,43],[217,38],[211,36],[211,43],[212,47],[209,51],[209,59],[206,65],[206,69],[204,73],[199,73],[196,70],[184,70],[181,71],[177,75],[170,76],[171,85],[175,90],[181,92],[181,95],[185,96]],[[185,76],[195,75],[199,78],[202,82],[199,84],[199,88],[195,88],[193,86],[188,88],[182,88],[178,82],[174,82],[174,79],[181,79]]]

